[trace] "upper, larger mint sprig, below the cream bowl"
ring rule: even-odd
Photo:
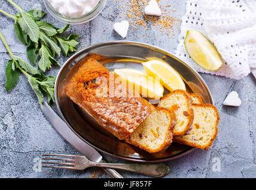
[[[78,39],[79,36],[77,34],[71,34],[67,38],[61,37],[61,34],[69,29],[69,24],[58,29],[51,23],[41,21],[46,15],[44,11],[32,9],[25,12],[12,0],[7,1],[18,9],[19,12],[17,12],[16,17],[1,9],[0,12],[16,21],[14,24],[16,36],[21,43],[27,46],[27,57],[30,63],[35,65],[39,56],[40,64],[38,68],[41,71],[46,71],[51,68],[52,64],[58,64],[54,57],[56,55],[60,56],[61,50],[66,56],[70,56],[72,52],[75,52],[76,46],[78,45],[76,39]],[[44,51],[45,48],[47,48],[48,51]],[[42,52],[47,52],[47,55]],[[42,58],[42,56],[44,56],[44,58]],[[45,58],[50,59],[48,65],[42,62],[44,60],[46,61]],[[44,65],[42,65],[42,63],[44,63]]]

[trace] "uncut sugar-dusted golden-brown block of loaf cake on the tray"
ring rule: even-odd
[[[81,62],[82,66],[64,88],[67,97],[115,137],[124,140],[155,107],[139,94],[129,93],[126,85],[115,83],[115,75],[93,57]]]

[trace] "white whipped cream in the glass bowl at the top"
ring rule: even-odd
[[[91,12],[100,0],[48,0],[51,6],[66,17],[81,17]]]

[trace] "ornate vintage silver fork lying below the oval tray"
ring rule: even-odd
[[[46,165],[42,167],[53,167],[61,169],[73,169],[73,170],[84,170],[88,167],[107,167],[111,169],[120,169],[128,172],[140,173],[142,175],[152,176],[152,177],[162,177],[169,173],[169,167],[164,163],[154,163],[154,164],[123,164],[123,163],[101,163],[101,162],[91,162],[85,156],[78,155],[66,155],[66,154],[42,154],[44,157],[42,160],[61,160],[65,162],[42,162],[43,164],[55,164],[64,166],[53,166]],[[61,157],[66,157],[65,159]],[[65,166],[66,165],[66,166]]]

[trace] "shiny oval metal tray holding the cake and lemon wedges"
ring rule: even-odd
[[[205,103],[214,104],[211,93],[198,72],[171,53],[155,46],[137,42],[98,43],[80,50],[69,58],[60,69],[60,72],[58,72],[55,83],[55,99],[58,110],[64,121],[78,137],[98,151],[135,162],[163,162],[184,156],[195,149],[187,145],[172,143],[162,153],[147,153],[147,151],[113,137],[110,132],[99,126],[94,119],[73,103],[64,93],[64,87],[69,81],[64,79],[72,68],[72,73],[67,78],[75,75],[79,66],[81,66],[78,62],[88,56],[89,53],[97,53],[110,58],[103,60],[104,66],[110,71],[115,68],[143,70],[143,66],[140,64],[141,61],[146,61],[146,59],[153,57],[162,59],[163,56],[166,56],[165,62],[180,73],[187,85],[187,90],[199,94]]]

